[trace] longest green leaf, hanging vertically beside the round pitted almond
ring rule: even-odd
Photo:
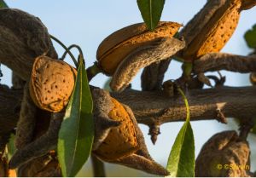
[[[58,155],[63,176],[75,176],[90,156],[94,137],[92,98],[84,69],[79,70],[58,140]]]

